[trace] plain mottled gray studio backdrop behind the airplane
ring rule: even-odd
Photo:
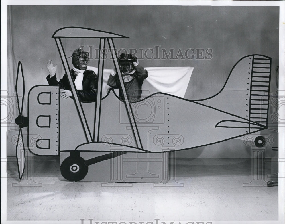
[[[139,63],[144,67],[194,67],[186,99],[202,99],[216,94],[240,58],[250,54],[263,54],[272,58],[270,89],[273,96],[276,94],[279,7],[8,6],[7,11],[8,94],[14,96],[17,63],[20,60],[25,76],[24,116],[27,116],[28,90],[34,85],[47,84],[47,60],[58,64],[58,78],[64,74],[55,41],[51,37],[57,29],[66,26],[93,28],[130,37],[115,39],[115,46],[118,49],[143,49]],[[68,40],[63,44],[68,56],[80,45],[85,45],[84,49],[88,51],[99,47],[99,42],[91,39]],[[188,51],[186,58],[184,53],[190,48],[194,49],[194,53]],[[147,49],[153,50],[148,50],[145,55]],[[157,59],[162,58],[162,49],[167,53],[173,49],[173,58]],[[177,56],[179,49],[182,56]],[[212,56],[205,53],[206,49],[210,49],[208,52]],[[139,53],[137,56],[140,58]],[[97,66],[95,60],[91,60],[89,65]],[[107,62],[106,67],[112,68],[111,63]],[[15,156],[14,139],[18,133],[14,123],[17,117],[15,102],[13,106],[9,109],[11,116],[7,118],[8,156]],[[264,134],[266,131],[263,131]],[[27,128],[24,128],[23,134],[26,132]],[[278,139],[275,141],[278,144]],[[246,146],[242,140],[232,139],[177,152],[176,156],[248,158],[251,157],[251,147]]]

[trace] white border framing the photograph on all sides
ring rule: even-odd
[[[279,6],[279,95],[285,95],[285,1],[138,1],[138,0],[115,0],[115,1],[92,1],[92,0],[50,0],[47,1],[1,1],[1,91],[7,90],[7,5],[209,5],[209,6]],[[283,99],[284,100],[284,99]],[[281,99],[280,99],[281,102]],[[284,107],[279,108],[279,114],[284,114]],[[1,107],[1,117],[7,116],[6,108]],[[281,121],[281,120],[280,120]],[[7,210],[6,210],[6,196],[7,196],[7,173],[6,173],[6,132],[7,127],[1,125],[1,223],[68,223],[68,224],[80,224],[80,220],[76,221],[6,221]],[[284,224],[285,221],[285,131],[284,127],[279,127],[279,220],[278,221],[214,221],[211,222],[221,224]],[[270,206],[270,202],[268,202]],[[105,220],[106,221],[106,220]],[[143,221],[143,220],[139,220]],[[137,221],[137,223],[139,222]],[[155,220],[145,220],[144,223]],[[161,220],[165,221],[165,220]],[[173,220],[172,220],[173,221]],[[189,220],[191,221],[191,220]],[[202,221],[202,220],[200,220]],[[209,220],[204,220],[204,223]],[[109,221],[111,222],[111,221]],[[125,220],[125,222],[135,222],[133,220]],[[167,221],[165,221],[167,222]],[[188,221],[180,221],[181,224],[187,223]],[[119,223],[119,222],[118,222]],[[168,222],[170,223],[170,221]],[[177,221],[178,223],[178,221]],[[176,223],[175,223],[176,224]]]

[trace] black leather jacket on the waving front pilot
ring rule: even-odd
[[[73,69],[71,69],[70,71],[72,74],[72,79],[74,81],[76,75],[74,74]],[[56,80],[56,75],[52,77],[48,75],[46,77],[46,80],[48,81],[49,85],[59,85],[60,88],[71,91],[71,87],[69,85],[69,81],[66,74],[64,74],[64,76],[62,77],[62,79],[60,79],[59,82]],[[82,90],[77,90],[80,101],[96,101],[98,85],[97,83],[97,75],[93,71],[86,70],[83,73]]]

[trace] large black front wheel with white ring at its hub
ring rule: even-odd
[[[69,156],[60,166],[61,175],[68,181],[81,181],[88,173],[88,166],[80,156]]]

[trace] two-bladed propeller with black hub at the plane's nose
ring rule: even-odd
[[[20,68],[21,68],[22,75],[19,76]],[[21,86],[23,87],[22,92],[21,92],[21,88],[19,88]],[[24,169],[25,169],[25,146],[24,146],[24,141],[23,141],[22,128],[28,126],[28,117],[24,117],[22,115],[24,95],[25,95],[25,81],[24,81],[22,63],[20,61],[18,62],[15,90],[16,90],[16,98],[17,98],[16,100],[17,108],[19,111],[19,116],[15,119],[15,123],[19,126],[19,134],[16,139],[16,158],[17,158],[19,178],[21,179],[24,173]],[[19,93],[18,93],[18,90],[19,90]],[[19,94],[20,96],[22,96],[21,104],[19,100]],[[22,153],[22,149],[23,149],[23,153]]]

